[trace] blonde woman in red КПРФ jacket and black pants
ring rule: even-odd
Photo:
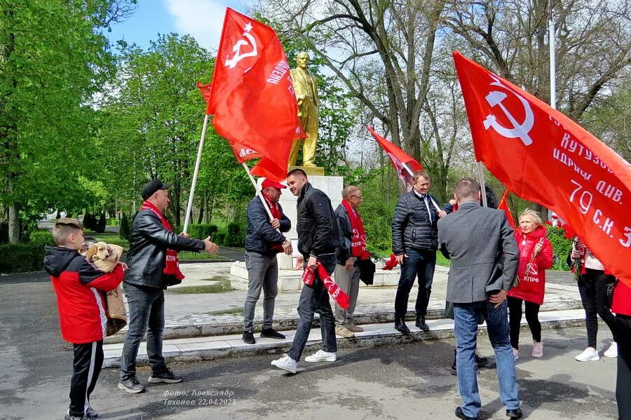
[[[510,344],[515,360],[520,357],[522,302],[526,302],[526,321],[532,334],[531,355],[534,358],[543,356],[538,316],[545,292],[545,270],[552,266],[552,245],[545,237],[546,233],[548,230],[537,212],[530,209],[522,212],[520,226],[515,231],[517,246],[520,248],[520,266],[517,269],[519,283],[508,291]]]

